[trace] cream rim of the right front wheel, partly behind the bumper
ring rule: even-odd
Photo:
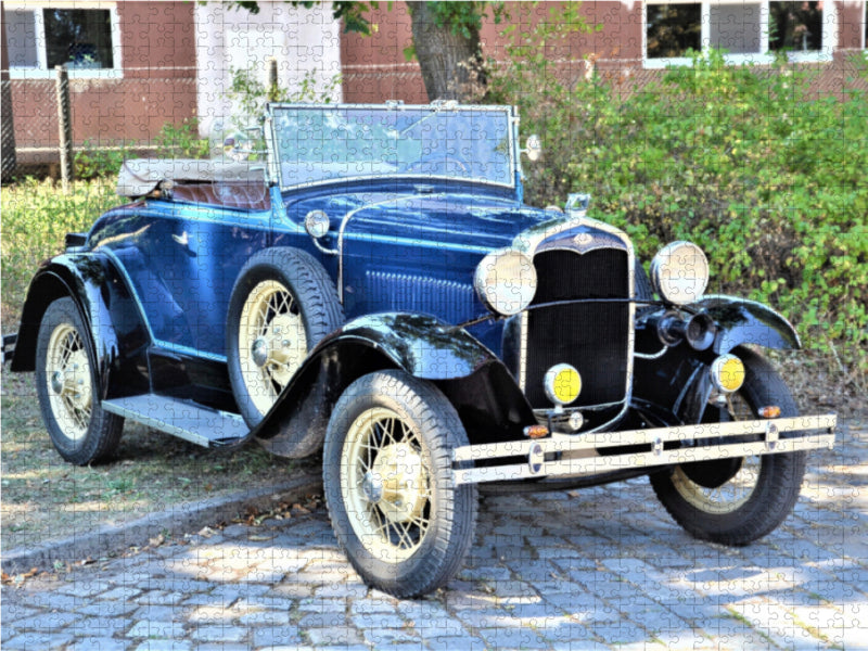
[[[735,420],[754,418],[753,411],[740,394],[728,396],[728,406]],[[704,513],[724,515],[737,511],[751,499],[760,481],[762,459],[754,456],[745,457],[736,475],[715,488],[697,484],[687,476],[680,465],[675,468],[672,481],[675,489],[690,505]]]

